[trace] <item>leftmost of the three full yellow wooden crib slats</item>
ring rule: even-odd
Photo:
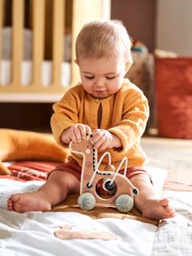
[[[13,0],[12,88],[21,85],[23,51],[24,0]]]

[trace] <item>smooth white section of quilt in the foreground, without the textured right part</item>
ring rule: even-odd
[[[0,179],[0,255],[1,256],[127,256],[150,255],[156,226],[137,220],[104,218],[93,220],[80,213],[15,213],[6,209],[10,194],[36,190],[40,182],[21,183]],[[72,224],[72,230],[109,232],[116,240],[55,237],[59,224]],[[145,248],[145,250],[144,250]]]

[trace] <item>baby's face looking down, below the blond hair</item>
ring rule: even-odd
[[[119,91],[129,66],[123,57],[79,58],[77,65],[83,88],[99,99]]]

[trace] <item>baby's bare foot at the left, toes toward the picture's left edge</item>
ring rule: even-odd
[[[8,199],[7,206],[10,211],[18,213],[51,210],[51,204],[37,192],[13,194]]]

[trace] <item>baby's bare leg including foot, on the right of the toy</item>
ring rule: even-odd
[[[135,175],[130,181],[139,190],[139,195],[134,197],[134,205],[142,213],[142,216],[161,220],[175,216],[175,209],[169,204],[168,198],[161,198],[160,194],[152,186],[148,175]]]

